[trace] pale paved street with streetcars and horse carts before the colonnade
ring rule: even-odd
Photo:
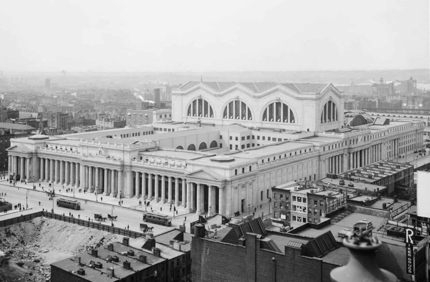
[[[97,197],[94,195],[94,193],[84,193],[84,192],[78,192],[75,190],[75,195],[73,194],[73,188],[72,187],[64,187],[60,185],[54,184],[55,189],[55,198],[54,198],[54,205],[52,206],[52,200],[49,200],[49,196],[46,194],[46,190],[52,190],[49,189],[48,183],[41,182],[41,187],[39,187],[39,182],[36,182],[36,190],[33,189],[32,183],[17,183],[16,186],[10,185],[8,181],[1,181],[0,182],[0,197],[1,192],[6,193],[6,196],[4,197],[6,201],[11,202],[12,206],[21,203],[22,207],[26,206],[26,202],[28,204],[28,207],[31,208],[31,211],[22,211],[21,213],[31,213],[37,210],[48,210],[51,211],[51,209],[54,209],[54,212],[57,214],[65,214],[69,215],[69,212],[73,214],[74,217],[80,216],[81,219],[88,219],[88,217],[91,219],[94,219],[94,213],[102,214],[104,217],[107,217],[107,214],[112,213],[112,207],[113,214],[118,216],[117,221],[113,221],[113,224],[116,227],[125,228],[127,225],[129,225],[129,230],[140,232],[140,223],[144,223],[142,220],[143,212],[145,211],[145,205],[143,203],[143,199],[141,198],[122,198],[121,206],[119,205],[120,199],[113,198],[111,196],[103,196],[102,194],[98,194]],[[42,189],[43,187],[43,189]],[[70,188],[72,191],[66,192],[66,189]],[[27,199],[26,199],[27,197]],[[81,210],[76,211],[68,208],[63,207],[57,207],[56,205],[56,198],[75,198],[81,202]],[[139,205],[139,200],[142,200],[142,204]],[[40,205],[39,205],[40,202]],[[85,203],[86,202],[86,203]],[[150,205],[146,208],[147,211],[151,210],[151,207],[154,212],[156,213],[162,213],[166,215],[173,216],[173,205],[172,205],[172,212],[170,212],[170,204],[165,203],[162,204],[160,201],[156,203],[154,200],[150,202]],[[186,217],[186,231],[190,232],[189,230],[189,223],[190,221],[196,221],[198,219],[198,215],[196,213],[187,213],[187,211],[184,209],[183,206],[178,206],[177,212],[178,215],[175,215],[172,218],[172,227],[164,227],[157,224],[148,224],[149,226],[153,226],[154,235],[158,235],[160,233],[164,233],[168,230],[171,230],[172,228],[179,228],[179,225],[183,224],[183,221]],[[269,203],[264,203],[257,207],[250,207],[249,212],[252,214],[254,211],[254,208],[256,208],[256,216],[261,215],[262,212],[264,212],[264,215],[267,215],[269,211]],[[9,211],[7,214],[0,213],[0,219],[2,216],[7,216],[8,214],[12,212],[19,212],[18,210],[12,210]],[[248,210],[245,211],[244,214],[240,215],[239,218],[242,216],[248,215]],[[102,222],[102,224],[110,225],[110,221]]]

